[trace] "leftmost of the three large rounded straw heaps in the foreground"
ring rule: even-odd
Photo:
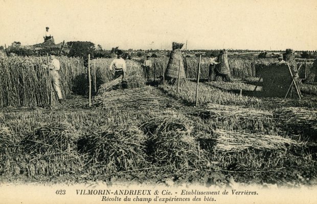
[[[80,172],[82,159],[77,151],[79,132],[69,123],[46,123],[23,142],[29,162],[28,174],[56,175]]]

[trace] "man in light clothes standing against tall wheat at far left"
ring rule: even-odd
[[[51,51],[49,53],[50,56],[50,63],[49,63],[49,69],[50,69],[50,76],[51,76],[51,81],[53,83],[54,86],[54,90],[57,93],[57,97],[58,97],[58,101],[59,103],[62,103],[63,97],[62,97],[62,92],[60,90],[60,86],[59,86],[59,73],[58,71],[60,70],[60,63],[59,60],[56,59],[56,53],[54,51]]]

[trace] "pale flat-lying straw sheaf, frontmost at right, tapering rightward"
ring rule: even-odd
[[[248,148],[286,150],[287,145],[298,145],[294,140],[277,135],[238,133],[225,130],[215,130],[214,135],[217,143],[215,151],[218,152],[242,151]]]

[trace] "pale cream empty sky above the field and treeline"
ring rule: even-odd
[[[0,0],[0,45],[92,41],[105,49],[317,49],[317,0]]]

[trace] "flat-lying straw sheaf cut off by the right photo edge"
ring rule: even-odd
[[[301,107],[288,107],[276,110],[276,117],[281,124],[286,124],[288,131],[302,133],[316,140],[317,135],[317,111]],[[289,130],[290,129],[290,130]]]

